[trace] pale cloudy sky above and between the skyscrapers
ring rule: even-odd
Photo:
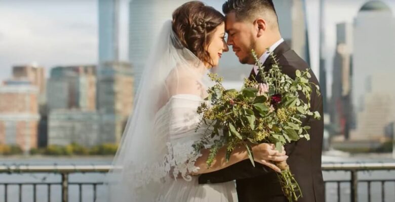
[[[274,0],[275,1],[275,0]],[[120,57],[128,60],[128,2],[121,0]],[[220,10],[223,1],[205,0]],[[325,0],[325,47],[328,79],[336,44],[336,23],[352,23],[367,0]],[[395,12],[395,0],[383,0]],[[319,64],[319,0],[306,0],[311,66]],[[0,80],[13,65],[95,64],[97,0],[0,0]],[[330,83],[328,83],[330,92]]]

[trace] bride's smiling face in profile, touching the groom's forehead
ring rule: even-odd
[[[225,23],[222,23],[214,30],[211,41],[207,47],[207,52],[210,54],[214,67],[218,66],[222,53],[227,51],[229,51],[229,48],[225,41]]]

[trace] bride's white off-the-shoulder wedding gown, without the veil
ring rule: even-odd
[[[203,102],[202,98],[193,94],[177,94],[156,114],[157,130],[167,131],[171,139],[174,162],[185,162],[188,154],[193,154],[192,144],[199,140],[205,127],[198,132],[195,128],[200,122],[196,109]],[[168,148],[162,148],[166,153]],[[177,159],[178,158],[178,159]],[[180,166],[182,168],[182,166]],[[185,169],[193,170],[193,163],[185,163]],[[182,171],[181,173],[185,172]],[[185,174],[185,173],[184,173]],[[190,181],[183,178],[170,179],[166,192],[160,193],[160,201],[188,201],[188,202],[232,202],[237,201],[235,183],[225,182],[219,184],[198,184],[198,176],[191,176]]]

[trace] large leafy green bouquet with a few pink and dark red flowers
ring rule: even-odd
[[[228,161],[236,146],[244,145],[248,151],[253,166],[254,157],[252,144],[271,143],[281,152],[286,143],[298,141],[301,138],[309,140],[309,126],[303,126],[302,120],[307,116],[320,119],[319,112],[310,111],[309,101],[313,83],[308,70],[296,71],[292,79],[282,73],[282,67],[273,53],[270,58],[273,64],[268,72],[252,51],[259,73],[265,83],[245,79],[241,91],[225,89],[223,78],[209,74],[215,85],[209,88],[208,102],[202,103],[197,112],[202,115],[202,123],[209,125],[203,138],[196,143],[195,149],[209,148],[210,155],[207,166],[210,167],[218,150],[227,148]],[[317,93],[319,86],[315,85]],[[198,128],[201,126],[199,124]],[[289,169],[287,162],[278,163],[282,170],[278,177],[282,190],[289,201],[297,201],[302,197],[300,187]]]

